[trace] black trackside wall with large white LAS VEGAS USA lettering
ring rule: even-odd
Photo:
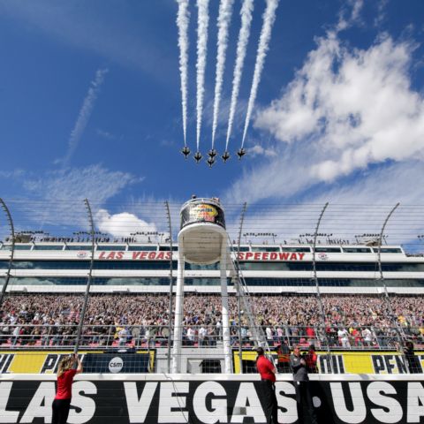
[[[409,423],[424,420],[424,388],[411,381],[309,382],[318,422]],[[3,423],[51,422],[54,381],[0,381]],[[294,383],[276,382],[277,420],[302,423]],[[265,423],[261,382],[186,380],[118,381],[77,379],[68,421],[72,424]]]

